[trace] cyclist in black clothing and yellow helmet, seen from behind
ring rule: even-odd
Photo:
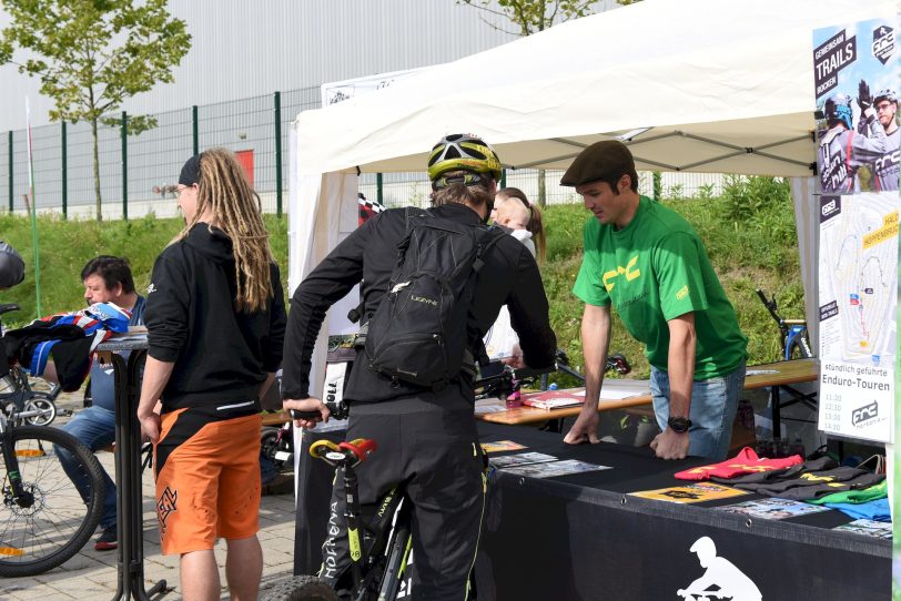
[[[433,189],[428,215],[473,228],[485,223],[500,177],[500,161],[488,144],[468,134],[442,139],[432,149],[428,175]],[[389,287],[398,244],[407,236],[406,218],[405,208],[375,215],[338,244],[294,292],[285,337],[283,403],[286,409],[320,411],[318,418],[298,420],[298,426],[310,428],[328,417],[328,409],[313,396],[316,391],[310,390],[313,346],[326,310],[362,281],[363,320],[372,318]],[[526,365],[551,365],[556,339],[535,258],[507,235],[498,236],[482,258],[469,319],[459,327],[473,333],[469,342],[475,344],[506,303]],[[414,515],[413,599],[466,599],[485,498],[472,377],[460,371],[441,388],[392,380],[371,369],[365,350],[357,348],[344,399],[351,407],[347,439],[378,442],[378,454],[357,469],[363,519],[376,513],[379,497],[403,486]],[[341,478],[331,507],[336,516],[343,515]],[[336,522],[343,528],[343,520]],[[343,593],[350,575],[346,534],[330,534],[320,575]]]

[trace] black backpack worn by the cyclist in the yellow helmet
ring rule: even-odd
[[[371,369],[437,390],[484,355],[474,348],[478,333],[467,328],[469,307],[483,257],[503,235],[407,208],[397,266],[367,324]]]

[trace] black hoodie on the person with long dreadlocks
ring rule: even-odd
[[[285,305],[279,267],[265,310],[239,313],[229,237],[199,223],[156,258],[144,323],[149,355],[174,363],[163,411],[256,400],[266,373],[279,369]]]

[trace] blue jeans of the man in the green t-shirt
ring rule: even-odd
[[[688,418],[688,455],[726,459],[732,439],[732,421],[738,411],[738,396],[745,388],[745,361],[735,370],[709,380],[695,380],[691,385],[691,409]],[[654,412],[661,430],[669,419],[669,374],[650,368],[650,394]]]

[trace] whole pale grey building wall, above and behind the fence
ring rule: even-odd
[[[616,6],[616,0],[600,0],[595,8]],[[281,92],[285,165],[288,124],[301,110],[320,105],[322,83],[447,62],[517,37],[516,28],[502,22],[503,18],[456,0],[170,0],[169,9],[185,20],[192,47],[174,69],[174,83],[160,84],[122,106],[130,115],[158,119],[155,129],[128,141],[129,216],[171,211],[174,203],[165,187],[174,184],[179,167],[193,152],[193,105],[198,106],[199,147],[252,152],[255,187],[265,210],[274,211],[275,91]],[[8,22],[0,12],[0,28]],[[485,69],[504,67],[486,64]],[[26,206],[26,96],[31,105],[39,210],[61,210],[65,183],[68,211],[90,213],[94,203],[90,128],[67,125],[63,182],[61,125],[47,118],[51,102],[39,95],[36,80],[11,64],[0,65],[0,207]],[[118,126],[101,128],[99,152],[104,214],[121,214],[124,186]],[[405,179],[386,174],[391,182]],[[286,202],[286,169],[282,183]],[[364,177],[362,183],[371,182]]]

